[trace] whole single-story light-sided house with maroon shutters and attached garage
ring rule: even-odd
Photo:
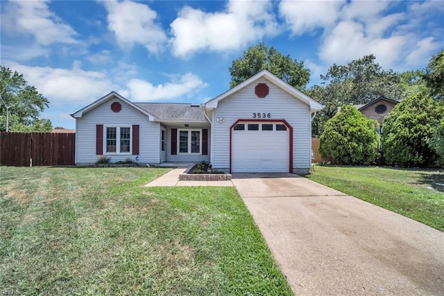
[[[110,92],[71,114],[76,163],[103,155],[112,162],[207,161],[225,172],[307,174],[311,119],[322,108],[266,70],[201,106],[133,103]]]

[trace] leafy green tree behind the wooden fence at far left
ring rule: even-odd
[[[1,65],[0,95],[7,106],[12,106],[9,110],[10,131],[23,129],[24,126],[29,128],[35,126],[40,129],[43,125],[47,128],[51,123],[49,120],[43,124],[35,122],[39,120],[40,113],[49,106],[49,101],[43,94],[37,92],[34,86],[28,85],[22,74],[17,71],[12,72],[11,69]],[[3,103],[0,106],[0,115],[0,130],[4,131],[6,129],[6,106]]]

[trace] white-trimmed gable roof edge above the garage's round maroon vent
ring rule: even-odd
[[[205,103],[205,108],[209,108],[209,109],[217,108],[217,104],[219,103],[219,101],[225,99],[226,97],[230,96],[234,92],[237,92],[237,91],[241,90],[242,88],[245,88],[246,86],[250,85],[251,83],[253,83],[254,81],[256,81],[257,79],[260,79],[260,78],[264,78],[264,79],[270,81],[271,83],[278,86],[282,90],[291,94],[296,99],[299,99],[300,101],[309,105],[311,112],[315,112],[315,111],[318,111],[318,110],[321,110],[322,108],[324,108],[323,105],[319,104],[314,99],[311,99],[311,97],[307,96],[307,94],[304,94],[300,90],[293,88],[293,86],[289,85],[288,83],[286,83],[282,79],[279,79],[277,76],[271,74],[267,70],[262,70],[261,72],[257,73],[255,76],[252,76],[249,79],[247,79],[246,81],[244,81],[243,83],[240,83],[239,85],[235,86],[234,88],[232,88],[226,92],[223,92],[223,94],[219,94],[219,96],[215,97],[214,99],[207,101]]]

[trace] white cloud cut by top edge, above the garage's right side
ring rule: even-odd
[[[334,26],[339,10],[345,4],[340,1],[293,1],[282,0],[279,13],[294,35],[309,33],[316,28]]]

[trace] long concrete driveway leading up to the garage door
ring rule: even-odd
[[[294,174],[232,182],[296,295],[444,295],[443,232]]]

